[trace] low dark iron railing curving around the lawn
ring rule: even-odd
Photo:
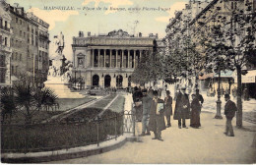
[[[1,125],[1,152],[36,152],[68,149],[117,139],[134,132],[132,112],[91,122],[67,121],[33,125]]]

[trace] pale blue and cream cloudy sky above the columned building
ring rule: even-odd
[[[52,56],[53,36],[60,31],[65,36],[63,54],[72,61],[73,36],[79,31],[92,35],[107,34],[109,31],[123,29],[135,36],[142,32],[158,33],[165,36],[165,27],[175,11],[182,10],[188,0],[6,0],[10,5],[18,3],[26,12],[50,25],[50,49]],[[129,10],[129,9],[133,10]],[[112,10],[110,10],[112,9]],[[136,24],[137,23],[137,24]]]

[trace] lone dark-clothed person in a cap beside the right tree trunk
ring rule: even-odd
[[[224,134],[229,137],[234,137],[233,128],[232,128],[232,119],[235,115],[235,111],[237,111],[237,108],[235,103],[230,100],[229,94],[224,94],[224,100],[226,101],[224,105],[224,115],[226,118]],[[230,134],[228,135],[228,133]]]

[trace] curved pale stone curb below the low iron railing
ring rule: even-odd
[[[127,134],[118,137],[116,140],[113,138],[107,141],[103,141],[99,143],[99,146],[92,144],[87,146],[44,152],[2,153],[1,161],[3,163],[40,163],[87,157],[119,148],[124,145],[126,141],[137,140],[138,138],[132,137],[132,134]]]

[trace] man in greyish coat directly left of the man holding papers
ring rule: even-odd
[[[143,98],[142,98],[142,109],[143,109],[143,117],[142,117],[142,134],[143,136],[150,136],[149,130],[149,120],[150,120],[150,110],[152,104],[152,90],[149,90],[147,93],[147,89],[142,90]]]

